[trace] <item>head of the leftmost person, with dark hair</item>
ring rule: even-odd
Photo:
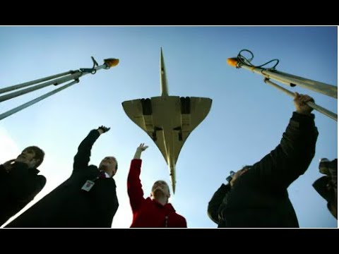
[[[44,151],[37,146],[26,147],[16,158],[16,162],[27,164],[29,168],[37,168],[44,161]]]

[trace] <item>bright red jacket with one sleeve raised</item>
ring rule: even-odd
[[[186,219],[177,214],[171,204],[143,198],[140,181],[141,159],[132,159],[127,179],[127,191],[133,212],[132,227],[187,227]]]

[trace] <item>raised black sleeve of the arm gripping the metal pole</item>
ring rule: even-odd
[[[267,186],[287,188],[309,167],[317,138],[314,114],[293,112],[280,144],[254,164],[251,171]]]

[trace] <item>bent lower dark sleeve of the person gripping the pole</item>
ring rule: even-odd
[[[210,202],[208,202],[207,214],[210,219],[213,220],[216,224],[219,224],[218,211],[219,207],[222,204],[222,200],[225,198],[225,195],[230,192],[231,186],[229,184],[225,185],[222,183],[220,188],[213,194]]]

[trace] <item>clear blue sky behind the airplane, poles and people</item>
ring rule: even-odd
[[[337,27],[0,27],[0,87],[48,75],[90,68],[90,56],[120,59],[118,66],[85,75],[81,82],[0,122],[0,163],[28,145],[46,152],[40,170],[47,185],[36,202],[66,180],[73,156],[90,130],[105,125],[92,150],[91,162],[105,156],[119,162],[119,209],[112,227],[129,227],[126,192],[129,165],[136,147],[145,143],[141,181],[145,196],[154,181],[169,183],[167,164],[153,141],[124,113],[121,102],[160,95],[160,47],[165,57],[169,95],[209,97],[210,113],[186,140],[177,162],[177,189],[172,205],[189,227],[215,228],[207,216],[208,201],[230,170],[254,164],[280,142],[295,107],[292,97],[263,83],[260,75],[227,65],[242,49],[254,52],[254,64],[280,59],[279,71],[338,83]],[[283,87],[286,87],[283,85]],[[288,88],[288,87],[287,87]],[[2,102],[7,111],[42,95]],[[314,97],[338,113],[337,99],[302,87],[290,90]],[[319,159],[338,157],[337,122],[316,114],[319,138],[307,170],[289,188],[301,227],[337,227],[326,201],[311,186]],[[30,203],[30,205],[33,204]],[[29,205],[29,206],[30,206]],[[28,206],[28,207],[29,207]],[[28,208],[26,207],[26,208]]]

